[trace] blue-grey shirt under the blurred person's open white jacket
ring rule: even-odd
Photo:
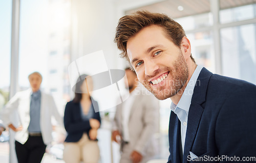
[[[30,133],[40,133],[40,107],[41,107],[41,92],[33,92],[30,101],[30,122],[28,130]]]

